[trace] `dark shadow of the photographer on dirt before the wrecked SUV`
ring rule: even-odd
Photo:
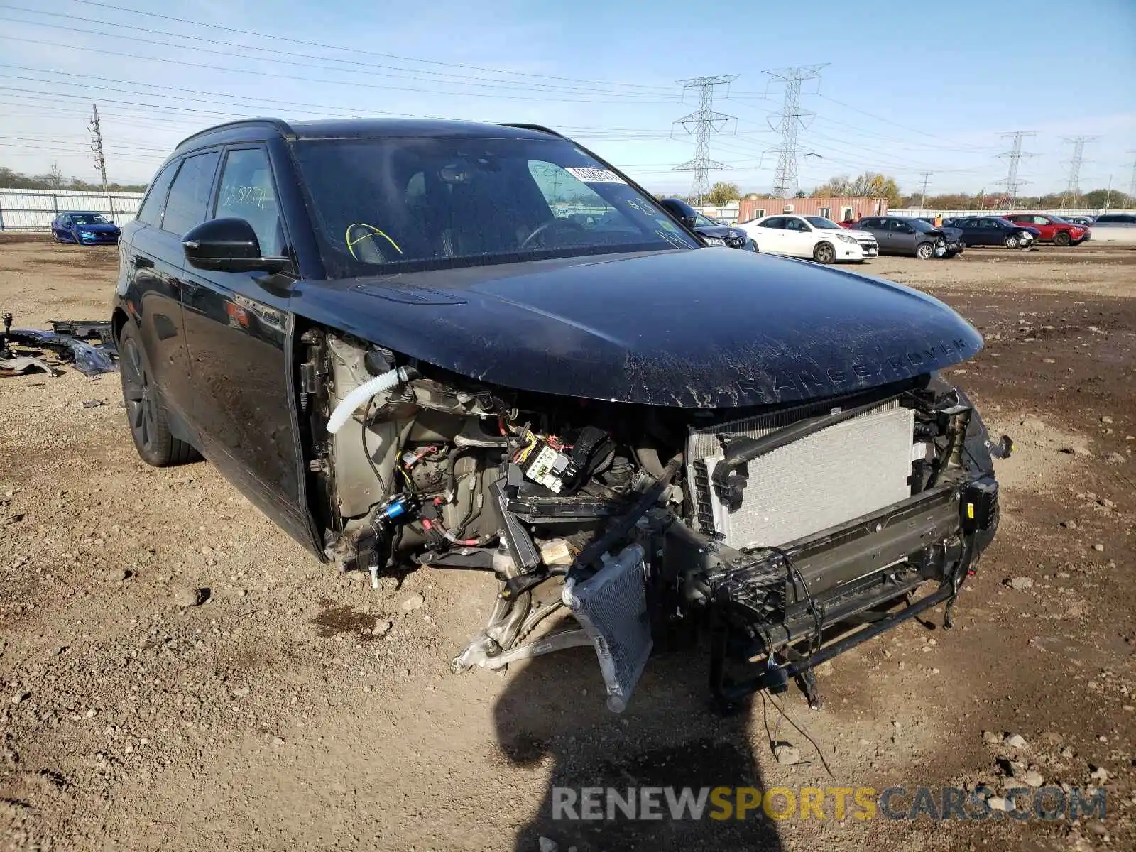
[[[516,852],[537,852],[541,837],[559,852],[707,850],[775,852],[782,849],[771,821],[751,811],[744,820],[712,819],[710,800],[701,819],[673,819],[666,795],[661,818],[628,819],[615,809],[608,819],[583,817],[584,787],[627,788],[755,787],[762,790],[753,758],[749,708],[730,716],[710,709],[705,660],[695,653],[652,658],[626,712],[604,705],[603,680],[591,648],[561,651],[513,667],[494,708],[502,752],[516,766],[552,761],[540,810],[517,835]],[[557,788],[567,788],[557,792]],[[575,809],[554,808],[575,797]],[[730,801],[735,801],[730,795]],[[556,818],[559,810],[560,818]],[[720,809],[718,809],[720,813]],[[548,844],[545,844],[548,846]]]

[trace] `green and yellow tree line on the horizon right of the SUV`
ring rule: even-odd
[[[919,207],[922,204],[927,210],[1002,210],[1013,203],[1022,209],[1041,208],[1054,209],[1062,206],[1077,209],[1102,209],[1110,208],[1133,208],[1136,207],[1136,198],[1119,190],[1096,189],[1089,192],[1078,192],[1076,195],[1069,193],[1051,192],[1045,195],[1018,197],[1013,201],[1002,192],[989,192],[982,190],[976,193],[953,192],[927,195],[924,203],[920,193],[904,193],[900,190],[895,178],[878,172],[864,172],[854,177],[850,175],[835,175],[825,183],[817,186],[812,192],[797,192],[797,198],[828,197],[852,197],[852,198],[884,198],[887,199],[888,207],[904,208]],[[722,207],[730,201],[743,198],[776,198],[768,192],[742,192],[736,183],[719,181],[707,194],[703,203],[713,207]],[[685,199],[691,201],[691,199]]]

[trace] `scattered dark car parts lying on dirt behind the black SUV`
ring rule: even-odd
[[[0,375],[20,375],[32,367],[49,375],[59,370],[42,356],[51,352],[61,362],[80,373],[93,376],[118,369],[118,352],[112,342],[110,323],[97,320],[50,320],[55,331],[12,328],[12,316],[3,314],[0,333]],[[87,342],[98,340],[98,344]]]

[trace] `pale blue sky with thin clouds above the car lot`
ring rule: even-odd
[[[893,175],[913,192],[995,191],[1024,140],[1020,193],[1061,191],[1075,136],[1081,190],[1136,179],[1136,0],[955,0],[930,6],[431,0],[0,0],[0,166],[94,179],[98,103],[111,181],[144,183],[191,133],[247,116],[417,115],[563,132],[655,192],[687,192],[699,107],[734,116],[710,137],[710,181],[768,192],[784,85],[801,87],[807,191]],[[50,9],[47,11],[36,11]],[[804,153],[812,156],[803,156]]]

